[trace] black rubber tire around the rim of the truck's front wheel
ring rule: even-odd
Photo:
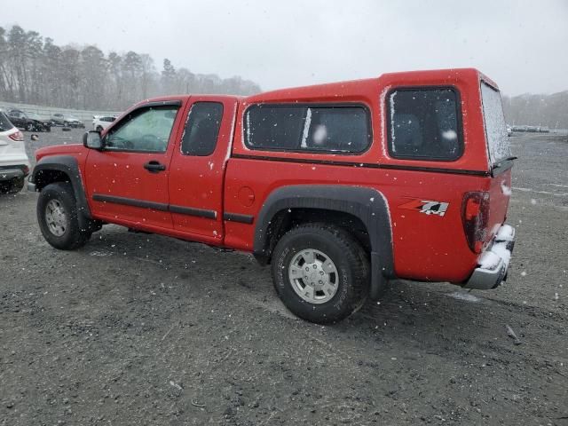
[[[62,235],[51,232],[46,221],[46,207],[51,200],[59,201],[65,211],[66,226]],[[90,232],[81,231],[77,218],[77,203],[73,193],[73,187],[66,182],[57,182],[47,185],[39,194],[37,200],[37,222],[45,241],[54,248],[60,250],[74,250],[82,247],[91,238]]]

